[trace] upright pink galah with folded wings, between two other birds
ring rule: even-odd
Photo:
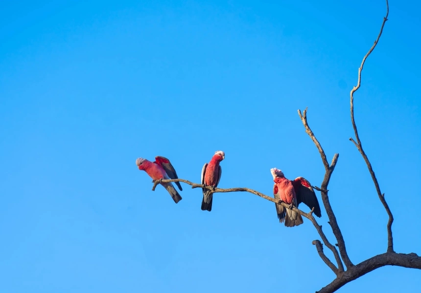
[[[221,180],[222,168],[219,163],[225,159],[225,153],[222,150],[215,151],[211,162],[205,163],[202,168],[202,184],[203,186],[209,185],[212,188],[218,186],[219,180]],[[202,210],[212,210],[212,199],[213,193],[211,190],[202,188],[203,199],[202,199]]]

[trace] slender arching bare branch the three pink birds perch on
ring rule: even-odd
[[[152,190],[155,190],[156,186],[160,182],[163,182],[163,183],[165,183],[165,182],[183,182],[183,183],[186,183],[186,184],[190,185],[191,188],[206,188],[208,190],[211,190],[214,193],[217,193],[217,192],[244,191],[244,192],[249,192],[249,193],[256,194],[257,196],[260,196],[260,197],[262,197],[262,198],[264,198],[264,199],[266,199],[268,201],[274,202],[276,204],[280,204],[281,206],[289,209],[289,205],[288,204],[286,204],[284,202],[279,202],[274,197],[267,196],[267,195],[265,195],[265,194],[263,194],[261,192],[258,192],[256,190],[253,190],[253,189],[250,189],[250,188],[227,188],[227,189],[225,189],[225,188],[214,188],[213,189],[211,186],[208,186],[208,185],[207,186],[203,186],[203,184],[193,183],[193,182],[190,182],[190,181],[187,181],[187,180],[184,180],[184,179],[162,179],[162,180],[152,180],[152,182],[154,184],[153,187],[152,187]],[[297,209],[296,207],[293,207],[292,210],[294,210],[295,212],[298,212],[303,217],[305,217],[308,220],[310,220],[311,223],[313,223],[314,227],[316,228],[317,232],[319,233],[320,237],[322,238],[323,243],[325,243],[325,245],[327,246],[327,248],[329,248],[332,251],[333,255],[335,256],[335,260],[338,263],[338,267],[339,267],[339,271],[337,271],[335,273],[337,274],[338,272],[343,272],[344,271],[344,267],[342,265],[341,258],[339,257],[339,253],[336,250],[336,248],[332,244],[330,244],[330,242],[327,240],[327,237],[326,237],[325,233],[322,230],[322,226],[317,223],[316,219],[313,216],[313,209],[310,212],[308,212],[308,213],[302,211],[301,209]],[[319,240],[315,240],[315,241],[319,241]]]

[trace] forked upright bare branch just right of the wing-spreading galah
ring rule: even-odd
[[[345,266],[347,267],[347,269],[349,269],[350,267],[353,266],[353,264],[348,256],[347,249],[345,247],[344,237],[342,236],[342,232],[339,229],[335,214],[333,213],[333,209],[330,206],[329,197],[327,196],[327,185],[329,184],[330,176],[332,175],[333,170],[335,169],[339,154],[335,154],[333,156],[332,163],[329,166],[329,164],[327,163],[325,151],[323,150],[317,138],[314,136],[314,133],[313,131],[311,131],[310,126],[308,126],[307,108],[305,108],[305,110],[303,111],[303,114],[301,114],[301,111],[298,110],[298,115],[300,115],[301,121],[303,122],[303,125],[305,127],[305,132],[307,132],[311,140],[319,149],[319,153],[320,153],[320,156],[322,157],[323,165],[325,165],[326,173],[325,173],[325,177],[323,178],[322,188],[319,188],[319,189],[320,189],[320,193],[322,194],[322,200],[327,212],[327,217],[329,218],[330,227],[332,228],[333,234],[335,235],[336,240],[338,242],[339,253],[341,254],[341,257],[342,257],[342,260],[344,261]],[[340,268],[341,265],[339,265],[338,263],[339,271],[341,271],[341,268]]]

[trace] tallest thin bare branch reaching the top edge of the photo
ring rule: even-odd
[[[364,56],[363,61],[361,63],[361,66],[360,66],[360,68],[358,68],[358,83],[351,90],[351,122],[352,122],[352,127],[354,128],[356,142],[352,138],[350,138],[350,141],[354,143],[354,145],[357,147],[358,151],[361,153],[362,157],[364,158],[364,161],[366,162],[367,167],[370,171],[371,177],[373,179],[375,190],[377,191],[378,198],[380,199],[380,202],[383,204],[383,207],[386,209],[386,212],[389,215],[389,220],[387,222],[387,252],[393,252],[394,251],[393,250],[393,236],[392,236],[393,215],[392,215],[391,210],[389,209],[389,205],[387,204],[386,199],[384,198],[384,194],[382,194],[381,191],[380,191],[380,187],[378,185],[377,178],[375,177],[373,167],[371,166],[371,163],[370,163],[366,153],[363,150],[363,146],[361,145],[360,137],[358,135],[357,126],[355,125],[354,97],[353,97],[354,92],[356,92],[357,89],[360,88],[360,85],[361,85],[361,71],[363,70],[364,63],[365,63],[367,57],[370,55],[371,52],[373,52],[375,46],[377,45],[378,40],[380,39],[381,33],[383,32],[384,24],[387,21],[387,16],[389,15],[389,2],[388,2],[388,0],[386,0],[386,9],[387,9],[386,16],[383,18],[383,23],[381,24],[380,33],[378,34],[377,39],[374,41],[373,46],[370,48],[368,53]]]

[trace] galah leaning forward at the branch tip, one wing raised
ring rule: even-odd
[[[174,167],[172,167],[168,159],[164,157],[156,157],[155,160],[156,161],[152,163],[146,159],[138,158],[136,160],[136,165],[138,166],[139,170],[144,170],[153,180],[178,179],[177,173],[175,172]],[[168,169],[168,173],[166,172],[166,169]],[[169,195],[171,195],[175,203],[178,203],[182,200],[182,197],[171,182],[160,182],[160,184],[168,191]],[[177,186],[180,188],[180,190],[182,190],[179,184]]]

